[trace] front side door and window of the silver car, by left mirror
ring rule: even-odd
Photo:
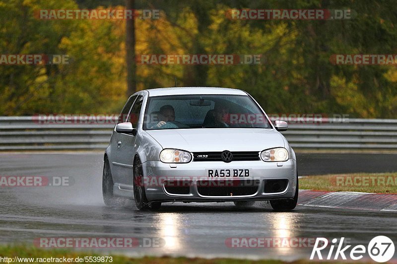
[[[143,97],[138,96],[131,108],[129,115],[127,116],[127,122],[132,123],[133,128],[137,128],[139,113],[142,108]],[[120,133],[119,143],[120,148],[118,148],[116,158],[117,162],[120,164],[120,188],[133,190],[133,158],[135,155],[135,146],[136,136],[131,134]]]

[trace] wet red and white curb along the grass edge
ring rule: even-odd
[[[397,211],[397,194],[301,190],[298,205],[372,211]]]

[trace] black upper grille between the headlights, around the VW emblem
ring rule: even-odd
[[[222,152],[195,152],[193,161],[222,161]],[[233,161],[261,160],[258,151],[232,151]]]

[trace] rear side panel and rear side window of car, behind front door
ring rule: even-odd
[[[129,98],[129,100],[127,101],[126,105],[123,107],[119,118],[117,119],[117,123],[123,123],[126,122],[128,114],[131,110],[132,104],[136,99],[136,95],[132,96]],[[120,145],[121,145],[121,133],[117,133],[116,132],[116,127],[113,131],[112,134],[112,138],[110,139],[110,148],[111,148],[111,157],[110,160],[112,162],[112,176],[113,176],[113,182],[115,185],[119,185],[120,184],[120,175],[122,173],[121,171],[121,164],[118,161],[117,158],[117,153],[119,152],[120,149]]]

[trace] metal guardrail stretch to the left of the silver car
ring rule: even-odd
[[[114,123],[44,122],[37,116],[0,116],[0,151],[101,150]]]

